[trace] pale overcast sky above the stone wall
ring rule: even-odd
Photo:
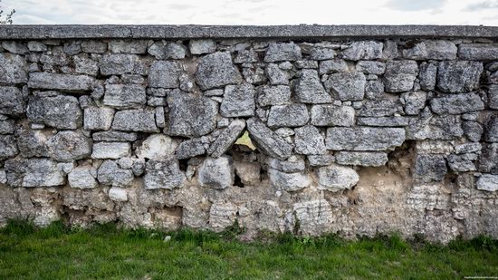
[[[484,24],[498,0],[3,0],[14,24]]]

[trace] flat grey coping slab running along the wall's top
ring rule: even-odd
[[[199,38],[489,38],[498,26],[476,25],[2,25],[0,40]]]

